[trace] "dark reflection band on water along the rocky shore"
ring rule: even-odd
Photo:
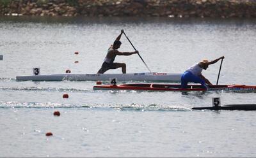
[[[36,17],[2,16],[1,22],[45,23],[45,24],[213,24],[213,25],[255,25],[253,18],[166,18],[166,17]]]

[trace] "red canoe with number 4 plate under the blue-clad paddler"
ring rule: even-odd
[[[136,83],[123,85],[95,85],[94,90],[156,90],[156,91],[220,91],[232,90],[234,92],[256,92],[256,86],[252,85],[209,85],[209,89],[203,89],[201,85],[188,85],[188,89],[180,88],[179,84],[155,84]]]

